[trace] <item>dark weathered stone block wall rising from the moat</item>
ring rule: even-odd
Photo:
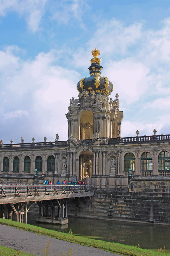
[[[95,190],[94,197],[74,199],[68,215],[170,224],[169,178],[137,177],[129,191]]]

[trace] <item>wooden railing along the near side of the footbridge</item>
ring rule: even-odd
[[[91,185],[44,185],[44,184],[27,184],[27,185],[21,185],[21,184],[0,184],[0,194],[6,195],[6,194],[17,194],[17,196],[20,196],[22,193],[32,194],[32,193],[48,193],[48,192],[54,192],[58,194],[63,193],[77,193],[78,191],[81,192],[89,192],[93,191]]]

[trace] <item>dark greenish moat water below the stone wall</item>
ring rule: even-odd
[[[28,221],[28,224],[35,223]],[[62,229],[53,224],[36,223],[36,226],[127,245],[140,244],[140,248],[158,251],[159,246],[170,253],[170,226],[152,223],[133,223],[69,217],[69,225]]]

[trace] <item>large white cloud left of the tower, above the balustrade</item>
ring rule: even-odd
[[[12,121],[15,134],[11,134],[15,141],[21,136],[25,141],[32,137],[42,141],[44,136],[54,140],[55,133],[60,140],[67,139],[65,114],[70,98],[78,95],[76,84],[80,79],[78,72],[54,65],[55,55],[55,51],[39,53],[32,61],[23,61],[7,50],[1,52],[2,63],[7,59],[5,70],[0,67],[4,92],[0,103],[1,130],[6,130],[6,140],[9,140],[8,133],[11,134],[10,119],[15,119]]]

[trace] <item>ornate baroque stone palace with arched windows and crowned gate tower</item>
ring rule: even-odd
[[[83,180],[92,185],[127,185],[133,176],[170,176],[170,135],[121,137],[123,112],[113,84],[101,76],[100,51],[92,51],[90,76],[78,84],[78,99],[70,100],[68,140],[3,144],[0,142],[0,182],[31,183],[37,169],[40,182]]]

